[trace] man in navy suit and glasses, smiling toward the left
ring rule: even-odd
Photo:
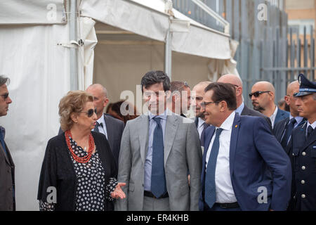
[[[236,107],[235,86],[206,87],[202,112],[213,126],[205,132],[199,210],[286,210],[289,157],[265,119],[239,116]]]

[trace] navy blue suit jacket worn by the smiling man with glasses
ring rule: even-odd
[[[204,210],[206,153],[214,131],[213,126],[205,131],[199,210]],[[235,115],[230,139],[230,178],[242,210],[287,209],[291,194],[291,162],[262,117]],[[261,186],[267,190],[267,203],[258,203]]]

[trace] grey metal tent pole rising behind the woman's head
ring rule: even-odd
[[[69,2],[69,1],[68,1]],[[77,0],[70,0],[70,41],[77,42]],[[70,90],[78,90],[77,48],[70,48]]]

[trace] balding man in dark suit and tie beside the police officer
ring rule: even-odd
[[[290,115],[275,124],[275,128],[273,129],[277,141],[281,143],[286,152],[292,130],[305,122],[303,117],[298,115],[298,108],[297,105],[295,105],[296,97],[294,94],[298,93],[299,89],[300,84],[298,81],[291,82],[291,84],[287,86],[287,95],[284,96],[284,101],[289,105]]]

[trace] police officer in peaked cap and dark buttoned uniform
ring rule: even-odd
[[[295,104],[306,121],[293,130],[289,143],[293,180],[290,210],[316,210],[316,82],[298,75]]]

